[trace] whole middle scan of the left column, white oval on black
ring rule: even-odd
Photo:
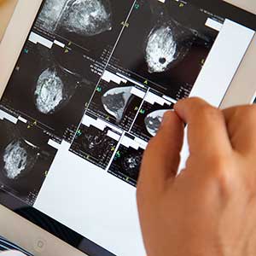
[[[1,104],[61,138],[79,125],[90,102],[100,79],[93,65],[76,50],[27,42]]]

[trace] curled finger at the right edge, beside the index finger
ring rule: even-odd
[[[241,153],[256,153],[256,106],[223,110],[233,148]]]

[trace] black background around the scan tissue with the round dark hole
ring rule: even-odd
[[[177,99],[181,87],[195,83],[201,71],[201,61],[207,58],[218,32],[205,26],[208,16],[189,4],[181,8],[174,0],[167,0],[165,4],[157,0],[140,0],[137,3],[139,7],[131,13],[129,26],[125,28],[110,63],[129,70],[135,79],[148,79],[152,82],[148,84],[150,87]],[[148,34],[154,26],[168,20],[176,20],[183,26],[187,35],[181,44],[189,44],[190,41],[191,49],[182,61],[166,72],[148,73],[144,59]]]

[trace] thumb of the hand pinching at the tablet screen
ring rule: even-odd
[[[169,111],[160,131],[145,150],[137,188],[147,193],[163,189],[166,181],[177,174],[182,145],[183,122],[176,113]]]

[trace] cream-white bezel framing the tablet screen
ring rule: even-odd
[[[227,2],[234,3],[243,9],[256,13],[256,3],[254,0],[248,0],[247,2],[244,0],[229,0]],[[17,58],[20,55],[20,51],[30,32],[41,3],[42,0],[22,0],[16,6],[15,13],[10,20],[9,27],[0,44],[0,96],[3,95],[5,86],[13,72]],[[224,97],[221,105],[222,108],[252,102],[252,96],[255,95],[256,91],[254,77],[256,72],[254,63],[255,55],[256,37],[253,38],[253,42],[241,62],[236,77],[233,79]],[[25,247],[31,253],[40,253],[42,256],[84,255],[84,253],[80,253],[64,241],[50,235],[48,232],[21,218],[5,207],[0,206],[0,216],[1,235],[6,236],[11,241],[17,242],[21,247]],[[44,245],[43,247],[41,247],[42,244]]]

